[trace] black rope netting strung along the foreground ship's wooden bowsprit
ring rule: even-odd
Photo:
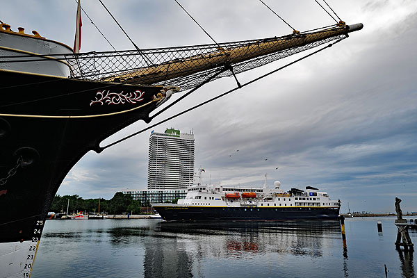
[[[348,26],[335,26],[261,40],[141,51],[90,52],[69,54],[65,58],[70,64],[72,78],[135,85],[173,85],[179,90],[189,90],[220,71],[212,80],[234,76],[327,42],[343,40],[348,31]]]

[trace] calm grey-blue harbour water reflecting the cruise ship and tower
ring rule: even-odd
[[[346,219],[345,247],[337,222],[49,220],[31,277],[416,277],[394,220]]]

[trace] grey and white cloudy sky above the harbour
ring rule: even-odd
[[[138,47],[211,43],[174,0],[103,0]],[[297,30],[334,21],[313,0],[264,0]],[[291,33],[257,0],[180,0],[218,42]],[[352,211],[417,211],[417,2],[335,1],[347,24],[363,23],[350,38],[257,83],[198,108],[154,130],[193,129],[195,166],[206,182],[268,184],[281,188],[317,186]],[[118,49],[133,49],[99,1],[84,10]],[[0,20],[51,40],[74,43],[76,1],[14,0],[1,3]],[[81,51],[111,50],[83,14]],[[238,75],[240,83],[295,58]],[[226,78],[205,85],[154,122],[234,88]],[[172,98],[179,97],[176,95]],[[102,145],[146,126],[137,122]],[[110,199],[119,190],[147,187],[149,132],[90,152],[67,175],[60,195]],[[239,149],[239,152],[236,150]],[[265,160],[268,159],[268,160]],[[279,169],[275,170],[276,167]]]

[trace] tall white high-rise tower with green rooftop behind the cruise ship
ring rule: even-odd
[[[194,134],[167,129],[149,138],[148,189],[184,189],[194,180]]]

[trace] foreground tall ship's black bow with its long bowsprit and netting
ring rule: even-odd
[[[77,161],[101,152],[102,140],[138,120],[149,123],[149,113],[175,92],[338,42],[360,28],[76,54],[36,31],[1,24],[0,277],[30,276],[52,199]]]

